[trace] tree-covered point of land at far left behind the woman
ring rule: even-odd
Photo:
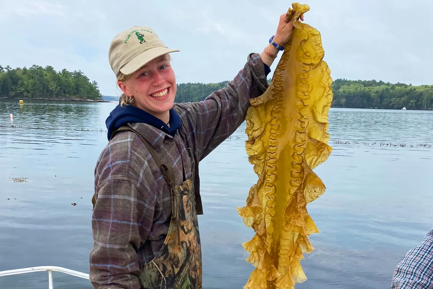
[[[0,65],[0,98],[101,100],[101,94],[97,82],[90,81],[81,70],[57,72],[50,65]]]

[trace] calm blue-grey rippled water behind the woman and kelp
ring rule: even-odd
[[[13,113],[15,125],[57,128],[0,127],[0,271],[53,265],[88,273],[94,166],[107,138],[80,130],[105,130],[114,107],[0,102],[2,125]],[[297,288],[389,288],[397,263],[433,227],[433,149],[416,146],[433,144],[433,112],[331,109],[329,120],[334,151],[315,170],[327,189],[307,207],[321,233],[310,237],[316,249],[302,261],[308,280]],[[244,131],[200,162],[207,289],[240,289],[253,269],[241,246],[253,231],[236,212],[257,181]],[[28,182],[13,182],[19,177]],[[91,288],[53,275],[55,288]],[[48,288],[47,274],[1,277],[0,288]]]

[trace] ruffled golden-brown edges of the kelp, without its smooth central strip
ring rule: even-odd
[[[292,7],[293,9],[288,10],[288,18],[295,17],[295,29],[303,29],[305,24],[297,19],[307,12],[309,7],[298,3],[293,3]],[[318,51],[323,50],[320,34],[319,41],[316,39],[313,44]],[[290,44],[286,45],[285,49],[278,67],[287,65]],[[293,182],[294,192],[282,216],[284,227],[281,238],[289,244],[284,247],[284,254],[279,257],[285,258],[279,260],[280,264],[287,264],[284,270],[278,270],[270,255],[269,244],[273,228],[267,227],[268,220],[265,220],[268,218],[265,214],[265,210],[269,208],[268,199],[275,194],[275,162],[278,155],[276,135],[280,128],[279,116],[282,106],[282,94],[275,91],[282,90],[284,70],[278,70],[277,67],[268,90],[262,96],[250,101],[252,107],[249,108],[246,117],[248,135],[246,150],[249,162],[254,165],[254,172],[259,176],[259,180],[251,187],[246,206],[237,208],[244,223],[255,231],[252,240],[242,244],[250,253],[247,261],[256,267],[244,286],[245,289],[294,289],[294,284],[307,279],[300,260],[304,259],[304,253],[310,253],[314,249],[307,236],[320,231],[308,214],[306,205],[319,198],[326,189],[312,169],[326,161],[332,151],[332,148],[327,145],[329,141],[327,118],[332,102],[330,87],[332,79],[326,62],[323,62],[323,55],[324,53],[320,55],[313,69],[324,69],[322,83],[326,88],[325,91],[319,97],[314,97],[311,91],[308,91],[308,85],[300,83],[297,94],[305,105],[300,109],[297,130],[299,134],[296,136],[302,141],[294,148],[295,153],[292,156],[292,167],[300,169],[294,169],[292,172],[290,182]],[[300,81],[308,82],[308,77]],[[302,120],[303,117],[310,117],[308,125]],[[301,169],[303,165],[304,169]]]

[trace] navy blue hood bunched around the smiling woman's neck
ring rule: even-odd
[[[110,116],[107,117],[107,120],[105,120],[105,124],[107,125],[108,129],[108,140],[110,140],[111,134],[115,130],[126,125],[126,123],[147,123],[171,136],[175,136],[176,131],[182,125],[182,120],[173,108],[169,112],[170,120],[168,123],[170,126],[168,126],[158,117],[154,117],[152,114],[149,114],[148,112],[145,112],[144,110],[133,105],[125,105],[123,107],[117,105],[116,108],[110,112]]]

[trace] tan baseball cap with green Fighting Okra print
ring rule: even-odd
[[[180,51],[169,49],[147,26],[133,26],[117,34],[110,45],[108,58],[111,69],[129,75],[147,62],[166,53]]]

